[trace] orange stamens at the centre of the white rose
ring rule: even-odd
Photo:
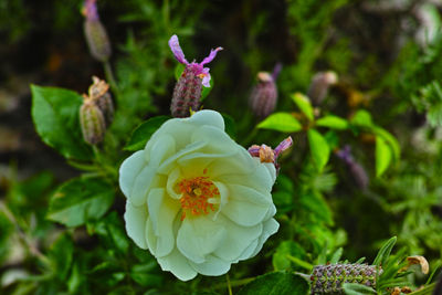
[[[182,193],[180,198],[181,221],[187,214],[198,217],[214,211],[213,198],[220,197],[218,188],[206,176],[182,179],[178,182],[178,191]]]

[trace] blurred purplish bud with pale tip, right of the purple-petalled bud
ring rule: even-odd
[[[277,101],[277,88],[272,75],[267,72],[257,73],[257,84],[253,87],[249,104],[253,114],[265,118],[273,113]]]

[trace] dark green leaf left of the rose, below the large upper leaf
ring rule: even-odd
[[[74,178],[52,196],[46,217],[66,226],[78,226],[103,217],[114,194],[113,186],[99,178]]]

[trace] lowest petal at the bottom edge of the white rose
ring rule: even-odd
[[[181,281],[189,281],[197,276],[197,272],[190,266],[189,261],[177,250],[173,249],[169,255],[158,257],[158,264],[162,271],[171,272]]]

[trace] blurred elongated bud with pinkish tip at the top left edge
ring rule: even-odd
[[[106,62],[112,54],[110,41],[106,29],[99,21],[96,0],[86,0],[83,7],[84,34],[92,56],[99,62]]]

